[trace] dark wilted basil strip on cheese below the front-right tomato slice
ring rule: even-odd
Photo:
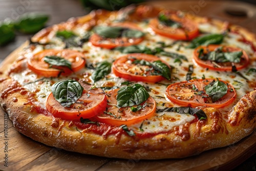
[[[180,114],[190,114],[190,115],[197,115],[199,120],[206,119],[207,116],[201,109],[191,108],[191,107],[173,107],[173,108],[164,108],[164,109],[157,109],[156,113],[161,112],[177,112]]]

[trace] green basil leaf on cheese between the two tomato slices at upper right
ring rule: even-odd
[[[190,44],[187,46],[187,48],[197,48],[200,45],[210,45],[210,44],[215,44],[219,45],[222,43],[224,39],[223,34],[207,34],[207,35],[202,35],[197,38],[194,38]]]

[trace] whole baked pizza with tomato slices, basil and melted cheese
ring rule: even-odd
[[[20,133],[111,158],[183,158],[256,126],[256,38],[149,5],[96,10],[36,33],[1,66]]]

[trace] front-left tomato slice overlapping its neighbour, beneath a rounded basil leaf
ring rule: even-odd
[[[63,107],[51,93],[46,100],[48,112],[56,118],[66,120],[79,120],[82,118],[91,118],[106,109],[106,96],[102,89],[88,86],[80,83],[84,88],[82,96],[71,106]]]

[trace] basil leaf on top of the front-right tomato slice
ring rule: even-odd
[[[211,98],[212,102],[215,102],[222,98],[227,93],[227,85],[217,80],[211,81],[207,86],[204,87],[205,93]]]

